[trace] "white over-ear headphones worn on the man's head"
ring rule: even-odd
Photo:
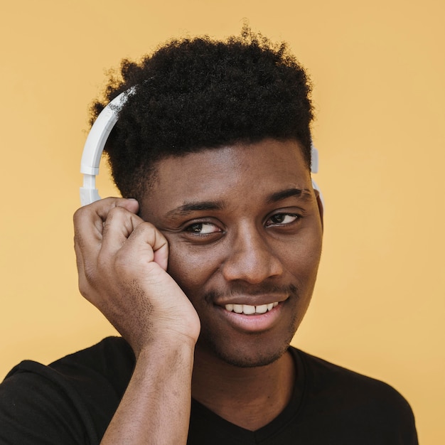
[[[102,109],[95,123],[90,129],[85,146],[83,147],[82,161],[80,161],[80,173],[83,174],[83,186],[80,187],[80,203],[87,205],[100,200],[99,192],[96,188],[96,176],[99,174],[100,158],[104,150],[105,142],[117,122],[118,113],[122,105],[127,101],[129,95],[134,94],[135,87],[122,92],[119,96],[107,104],[107,107]],[[318,172],[318,151],[311,146],[311,173]],[[312,180],[312,186],[318,190],[321,196],[321,191]],[[323,202],[323,198],[321,196]]]

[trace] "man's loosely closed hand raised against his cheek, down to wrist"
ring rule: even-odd
[[[153,341],[194,345],[200,323],[166,272],[168,243],[136,212],[136,200],[107,198],[74,215],[79,288],[132,345],[136,357]]]

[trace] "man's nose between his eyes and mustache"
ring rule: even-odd
[[[282,274],[282,263],[265,235],[256,227],[243,227],[231,238],[222,265],[223,277],[227,281],[242,280],[259,284],[265,279]]]

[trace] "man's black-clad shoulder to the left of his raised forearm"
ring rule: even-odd
[[[48,366],[21,362],[0,385],[0,442],[43,443],[51,431],[52,443],[81,443],[86,436],[96,443],[133,365],[132,350],[122,338],[106,338]]]

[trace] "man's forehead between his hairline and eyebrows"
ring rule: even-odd
[[[299,143],[267,139],[162,159],[141,205],[168,210],[191,200],[242,203],[290,188],[311,189]]]

